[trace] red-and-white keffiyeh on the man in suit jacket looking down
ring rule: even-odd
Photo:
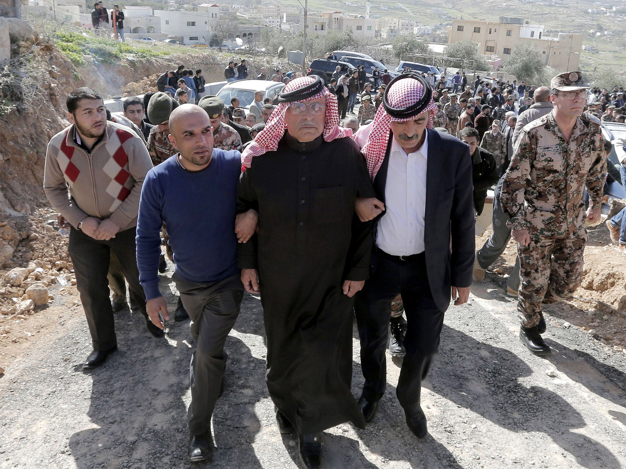
[[[378,173],[382,161],[385,159],[387,144],[389,143],[389,133],[391,133],[391,123],[411,121],[419,114],[430,111],[426,128],[432,129],[433,116],[438,112],[438,108],[432,98],[426,107],[406,118],[392,117],[387,113],[384,104],[387,103],[388,106],[391,106],[393,109],[408,108],[418,103],[418,101],[423,98],[425,92],[426,88],[424,88],[424,83],[421,80],[406,75],[400,75],[387,86],[383,103],[379,106],[378,111],[376,111],[376,116],[372,123],[372,131],[361,149],[361,153],[365,156],[367,171],[369,171],[369,176],[372,178],[372,181],[376,178],[376,173]]]

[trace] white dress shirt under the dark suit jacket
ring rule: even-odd
[[[424,251],[428,132],[418,151],[406,154],[392,139],[385,185],[385,214],[378,222],[376,246],[393,256]]]

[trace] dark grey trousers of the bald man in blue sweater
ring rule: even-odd
[[[211,428],[228,358],[224,342],[239,316],[244,285],[239,274],[213,283],[192,283],[176,274],[172,279],[192,320],[190,326],[196,341],[189,365],[192,401],[187,425],[192,435],[200,435]]]

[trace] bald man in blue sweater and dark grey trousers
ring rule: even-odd
[[[239,151],[213,149],[210,119],[195,104],[175,109],[169,125],[170,141],[180,153],[146,175],[137,223],[137,265],[148,315],[163,328],[159,315],[170,319],[158,289],[160,229],[165,222],[176,264],[172,279],[192,320],[197,345],[190,366],[187,456],[202,461],[213,450],[211,415],[226,366],[224,341],[244,295],[234,231],[241,159]]]

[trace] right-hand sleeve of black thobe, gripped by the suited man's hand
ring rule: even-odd
[[[361,153],[354,157],[354,189],[361,198],[376,197],[372,180],[367,173],[365,159]],[[369,258],[372,253],[374,221],[360,221],[356,213],[352,216],[352,238],[346,257],[346,280],[361,281],[369,278]]]

